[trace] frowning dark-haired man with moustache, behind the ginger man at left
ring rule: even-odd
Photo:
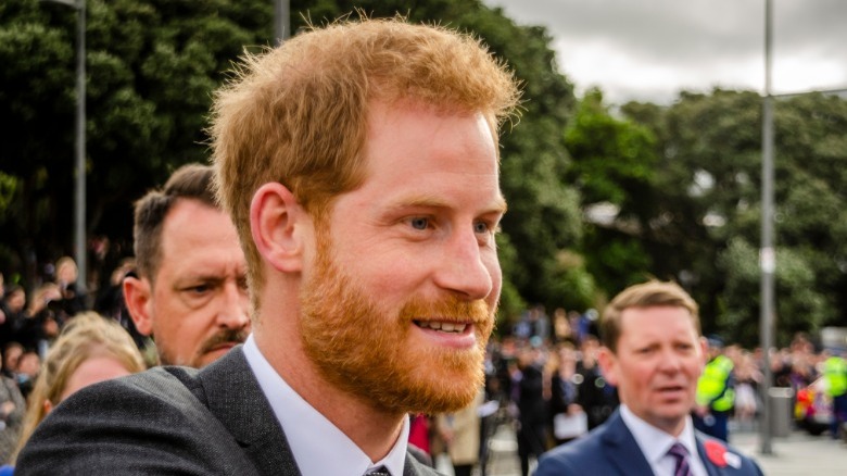
[[[208,165],[178,168],[136,202],[136,275],[124,298],[163,364],[202,367],[246,339],[246,264]]]

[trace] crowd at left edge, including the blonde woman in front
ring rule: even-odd
[[[36,425],[75,390],[152,363],[122,312],[119,283],[130,270],[122,263],[114,286],[97,297],[77,284],[68,256],[47,266],[33,290],[0,274],[0,464],[14,461]]]

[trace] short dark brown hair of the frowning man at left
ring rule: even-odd
[[[155,280],[162,261],[162,227],[178,200],[198,200],[218,209],[210,165],[188,164],[174,172],[164,188],[151,190],[135,203],[132,238],[139,277]]]

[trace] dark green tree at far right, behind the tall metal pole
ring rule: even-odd
[[[681,93],[667,109],[623,112],[659,138],[650,254],[681,280],[707,333],[755,345],[759,323],[761,98],[751,91]],[[845,323],[844,126],[847,103],[802,95],[775,105],[779,341]]]

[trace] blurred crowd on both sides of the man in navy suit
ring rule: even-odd
[[[595,310],[580,313],[557,309],[552,316],[543,306],[527,310],[501,337],[493,336],[489,345],[484,396],[471,409],[472,423],[463,426],[466,433],[478,434],[469,443],[477,446],[466,448],[465,456],[458,459],[450,451],[451,440],[455,439],[451,425],[457,419],[453,415],[418,415],[417,425],[429,425],[430,430],[414,437],[413,443],[423,448],[432,459],[446,451],[454,465],[467,467],[467,471],[476,467],[478,474],[484,476],[489,442],[496,427],[510,425],[517,438],[521,474],[530,474],[539,455],[599,426],[619,405],[617,389],[604,379],[597,362],[602,346],[597,318]],[[695,424],[721,416],[725,416],[726,422],[723,429],[697,428],[724,440],[729,439],[726,424],[730,421],[734,430],[755,430],[762,410],[759,391],[764,378],[764,360],[761,349],[724,345],[718,336],[708,336],[707,341],[709,363],[725,359],[729,372],[719,378],[721,385],[711,396],[705,385],[707,379],[701,377],[698,402],[703,397],[704,404],[710,408],[705,410],[705,417],[697,417],[697,409],[692,409],[692,415]],[[826,430],[831,429],[831,421],[844,422],[835,414],[835,396],[827,394],[840,391],[825,375],[827,361],[834,359],[843,360],[832,350],[816,347],[805,334],[797,334],[786,348],[771,350],[771,387],[791,389],[791,409],[796,413],[788,417],[794,417],[798,428],[805,428],[808,423],[800,412],[805,411],[802,399],[808,398],[812,388],[818,388],[819,398],[825,400]],[[833,378],[837,380],[838,375],[844,374],[836,373]],[[816,384],[819,385],[816,387]],[[847,388],[840,391],[842,394],[845,392]],[[729,408],[721,408],[721,399],[726,398]],[[839,429],[831,431],[837,436]],[[425,440],[420,435],[428,435],[429,439]],[[457,471],[456,474],[470,473]]]

